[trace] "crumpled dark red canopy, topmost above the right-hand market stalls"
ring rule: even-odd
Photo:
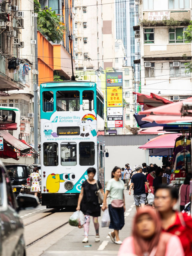
[[[140,105],[146,105],[149,108],[159,107],[165,104],[173,103],[154,93],[151,93],[150,95],[145,95],[142,93],[133,92],[133,94],[137,95],[137,103],[139,103]]]

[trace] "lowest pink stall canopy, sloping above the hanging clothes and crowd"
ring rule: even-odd
[[[175,140],[178,136],[182,134],[171,133],[163,134],[149,140],[144,145],[140,146],[140,149],[158,149],[158,148],[174,148]]]

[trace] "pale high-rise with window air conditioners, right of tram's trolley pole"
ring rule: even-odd
[[[104,68],[102,2],[98,0],[92,5],[88,0],[74,0],[76,70]]]

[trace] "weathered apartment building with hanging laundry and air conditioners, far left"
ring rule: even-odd
[[[2,1],[0,6],[0,76],[2,78],[0,88],[3,92],[0,104],[19,108],[21,113],[21,122],[18,124],[19,139],[33,143],[33,84],[36,81],[33,2]],[[16,61],[16,69],[11,70],[9,64],[14,61]]]

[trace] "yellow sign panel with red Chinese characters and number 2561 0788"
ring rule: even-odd
[[[123,107],[123,90],[107,87],[107,107]]]

